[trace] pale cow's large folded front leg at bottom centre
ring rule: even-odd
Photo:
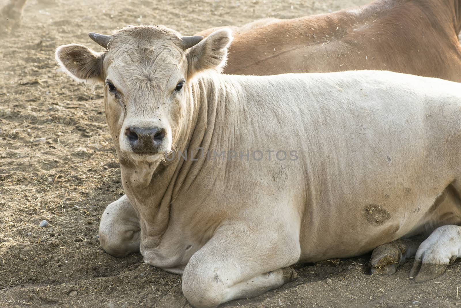
[[[300,256],[299,228],[266,228],[221,226],[190,258],[183,272],[183,293],[192,306],[217,307],[297,278],[289,266]]]

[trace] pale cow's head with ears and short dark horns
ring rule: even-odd
[[[79,82],[105,84],[106,118],[119,155],[162,159],[190,118],[188,82],[198,72],[222,69],[230,31],[203,40],[164,26],[128,26],[111,36],[89,36],[106,51],[63,45],[56,60]]]

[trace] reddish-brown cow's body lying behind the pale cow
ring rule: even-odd
[[[457,0],[377,0],[328,14],[256,21],[233,28],[224,72],[386,70],[461,82],[460,12]]]

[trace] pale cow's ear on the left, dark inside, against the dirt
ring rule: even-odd
[[[56,61],[78,82],[94,85],[104,82],[104,54],[105,52],[96,53],[83,45],[62,45],[56,49]]]

